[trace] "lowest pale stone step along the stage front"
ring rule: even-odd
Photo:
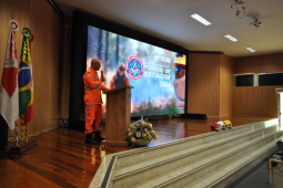
[[[163,181],[162,179],[154,179],[141,184],[139,187],[205,188],[218,185],[215,186],[216,188],[224,188],[236,180],[235,176],[232,177],[233,179],[226,180],[225,178],[229,175],[232,175],[234,171],[249,164],[249,161],[256,159],[256,156],[264,155],[266,152],[272,150],[273,147],[274,136],[270,136],[266,139],[252,143],[232,153],[224,153],[224,155],[219,154],[210,157],[210,159],[198,161],[198,167],[193,169],[188,166],[179,168],[175,170],[178,171],[176,176],[174,171],[165,174],[162,176]],[[272,150],[272,153],[274,153],[274,150]]]

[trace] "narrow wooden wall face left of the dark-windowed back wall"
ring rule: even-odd
[[[220,54],[220,116],[232,116],[234,94],[234,59]]]

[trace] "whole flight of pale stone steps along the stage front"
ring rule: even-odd
[[[123,152],[104,187],[226,187],[236,179],[232,174],[242,175],[237,169],[275,152],[280,136],[273,119]]]

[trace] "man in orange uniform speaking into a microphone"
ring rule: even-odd
[[[84,83],[84,104],[85,104],[85,130],[87,134],[85,143],[87,144],[99,144],[104,138],[100,135],[102,129],[102,98],[101,91],[108,91],[102,82],[105,81],[104,76],[101,75],[99,79],[98,72],[100,70],[100,61],[93,59],[91,61],[91,66],[83,74]],[[92,127],[93,122],[95,121],[94,127]],[[94,138],[92,138],[92,133],[94,132]]]

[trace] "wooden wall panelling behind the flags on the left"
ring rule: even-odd
[[[17,32],[18,56],[22,42],[21,31],[26,23],[36,36],[32,42],[34,118],[29,124],[29,134],[33,134],[59,124],[61,18],[46,0],[0,1],[1,74],[11,12],[20,23]],[[13,130],[9,135],[13,136]]]

